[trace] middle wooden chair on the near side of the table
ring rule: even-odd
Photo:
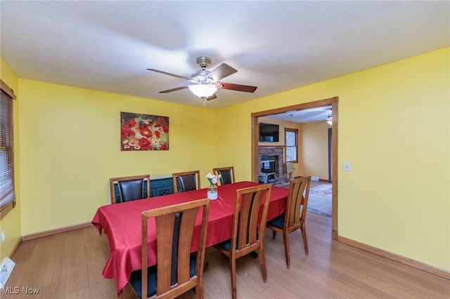
[[[271,185],[257,185],[236,191],[231,239],[214,246],[230,260],[231,289],[233,299],[236,298],[236,260],[259,249],[262,280],[266,282],[266,257],[264,255],[264,227],[266,227],[267,211]],[[258,223],[259,215],[261,221]],[[262,234],[258,234],[259,227]]]

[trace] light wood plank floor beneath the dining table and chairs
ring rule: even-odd
[[[450,298],[450,281],[382,258],[330,236],[331,218],[308,213],[309,255],[300,232],[290,235],[291,268],[285,267],[283,239],[266,230],[267,281],[259,259],[238,260],[238,298]],[[101,278],[108,239],[94,227],[25,241],[11,257],[16,263],[6,287],[39,288],[38,295],[1,298],[117,298],[116,283]],[[205,298],[231,298],[229,263],[207,249]],[[125,288],[120,298],[134,298]],[[192,292],[181,298],[195,298]]]

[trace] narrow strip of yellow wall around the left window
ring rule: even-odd
[[[0,59],[1,62],[1,72],[0,77],[1,80],[3,80],[10,88],[13,88],[14,94],[17,97],[17,100],[14,100],[14,166],[15,166],[15,173],[14,173],[14,180],[15,180],[15,203],[16,206],[13,208],[6,217],[2,218],[0,220],[0,230],[5,231],[5,243],[0,243],[0,261],[3,262],[4,258],[8,257],[8,255],[13,250],[15,244],[17,244],[18,240],[21,236],[21,214],[20,214],[20,207],[21,200],[20,200],[20,159],[19,159],[19,130],[17,129],[19,127],[19,102],[20,102],[20,96],[18,93],[18,77],[15,75],[11,67],[3,60]]]

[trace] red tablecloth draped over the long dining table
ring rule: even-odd
[[[219,197],[210,201],[210,215],[208,217],[206,246],[212,246],[231,238],[234,206],[236,204],[236,190],[252,187],[256,182],[236,182],[218,187]],[[110,204],[98,208],[92,224],[101,233],[108,235],[110,257],[101,272],[103,278],[117,281],[117,293],[127,284],[132,271],[141,269],[141,213],[161,206],[179,204],[195,199],[206,198],[206,189],[169,194],[162,197],[140,199]],[[281,215],[285,211],[288,189],[271,188],[271,197],[267,220]],[[151,226],[151,222],[149,222]],[[198,225],[200,221],[198,220]],[[156,263],[156,232],[148,229],[148,265]],[[198,244],[193,244],[192,251],[196,251]]]

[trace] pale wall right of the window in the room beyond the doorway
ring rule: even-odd
[[[315,176],[321,180],[328,180],[328,124],[326,121],[317,124],[302,124],[299,136],[301,176]]]

